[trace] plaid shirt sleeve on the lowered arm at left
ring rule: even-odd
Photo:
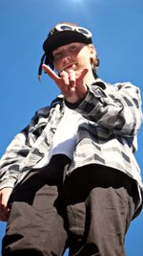
[[[31,147],[45,126],[45,117],[37,111],[27,128],[19,132],[10,142],[0,160],[0,189],[14,187],[20,166],[31,151]]]

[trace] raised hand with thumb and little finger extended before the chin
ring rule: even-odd
[[[82,69],[78,77],[76,77],[74,70],[70,70],[69,72],[62,71],[60,77],[58,77],[48,65],[43,64],[42,67],[51,77],[51,80],[59,87],[68,102],[77,103],[79,100],[85,98],[88,88],[84,83],[84,78],[88,73],[88,68]]]

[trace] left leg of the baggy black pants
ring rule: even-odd
[[[49,167],[32,172],[10,197],[10,218],[2,243],[3,256],[62,255],[67,231],[61,189],[69,163],[55,155]]]

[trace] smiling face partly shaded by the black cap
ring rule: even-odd
[[[95,50],[92,44],[72,42],[58,47],[52,55],[53,64],[58,73],[72,69],[78,75],[78,71],[85,67],[92,70],[91,59],[95,55]]]

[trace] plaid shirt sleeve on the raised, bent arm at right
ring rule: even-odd
[[[105,89],[93,84],[75,109],[85,118],[127,137],[133,137],[142,122],[140,90],[131,82],[107,84]]]

